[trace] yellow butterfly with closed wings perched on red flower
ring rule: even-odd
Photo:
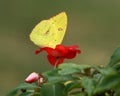
[[[30,40],[39,47],[52,47],[61,44],[67,27],[67,15],[61,12],[58,15],[42,20],[30,33]]]

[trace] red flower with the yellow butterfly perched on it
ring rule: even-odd
[[[76,54],[81,53],[80,50],[77,49],[78,46],[63,46],[56,45],[55,48],[51,47],[43,47],[36,51],[36,54],[39,54],[42,51],[47,52],[47,58],[51,65],[58,66],[63,63],[64,59],[72,59],[76,56]]]

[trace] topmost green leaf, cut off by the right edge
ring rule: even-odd
[[[118,62],[120,62],[120,47],[118,47],[113,55],[111,56],[111,60],[109,62],[110,66],[114,66],[115,64],[117,64]]]

